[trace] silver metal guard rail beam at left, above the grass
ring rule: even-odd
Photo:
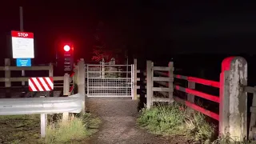
[[[0,115],[80,113],[82,94],[69,97],[2,98]]]

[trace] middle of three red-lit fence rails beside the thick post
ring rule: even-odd
[[[210,101],[219,103],[219,98],[215,95],[202,93],[202,92],[197,91],[197,90],[192,90],[192,89],[188,89],[188,88],[185,88],[185,87],[182,87],[182,86],[177,86],[177,85],[174,85],[174,89],[183,91],[183,92],[188,93],[188,94],[193,94],[193,95],[196,95],[200,98],[205,98],[205,99],[208,99]]]

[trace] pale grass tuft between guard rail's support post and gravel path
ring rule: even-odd
[[[44,141],[47,144],[78,142],[97,132],[100,123],[100,119],[92,117],[91,114],[70,118],[66,122],[58,119],[47,126]]]

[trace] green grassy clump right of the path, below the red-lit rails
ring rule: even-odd
[[[206,122],[205,115],[174,102],[171,106],[153,106],[142,109],[138,125],[153,134],[186,135],[195,141],[210,142],[215,127]]]

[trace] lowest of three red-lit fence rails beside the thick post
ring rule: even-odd
[[[186,106],[189,106],[190,108],[192,108],[194,110],[197,110],[197,111],[201,112],[202,114],[206,114],[210,118],[214,118],[214,119],[219,121],[219,115],[215,114],[214,112],[212,112],[210,110],[206,110],[206,109],[204,109],[204,108],[202,108],[200,106],[195,105],[194,103],[185,101],[185,100],[183,100],[181,98],[178,98],[178,97],[174,97],[174,99],[177,102],[181,102],[182,104],[185,104]]]

